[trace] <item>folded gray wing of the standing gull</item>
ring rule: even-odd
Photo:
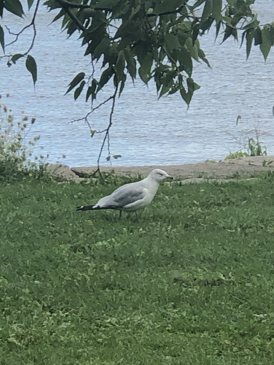
[[[108,199],[107,201],[104,201],[104,204],[117,205],[117,207],[125,207],[128,204],[143,199],[145,197],[145,186],[138,183],[141,183],[141,181],[119,187],[111,195],[108,196]]]

